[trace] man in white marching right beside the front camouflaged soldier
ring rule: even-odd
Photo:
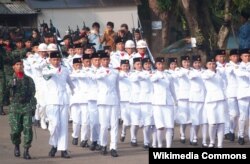
[[[50,139],[52,148],[50,157],[55,157],[57,150],[61,150],[61,157],[70,158],[68,149],[68,106],[69,97],[66,92],[66,85],[70,86],[73,93],[74,85],[69,77],[68,69],[61,65],[59,52],[50,53],[50,65],[42,71],[45,79],[44,88],[46,115],[49,121]]]

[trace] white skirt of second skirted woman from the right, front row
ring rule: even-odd
[[[201,125],[207,123],[207,113],[203,107],[203,102],[189,102],[192,125]]]

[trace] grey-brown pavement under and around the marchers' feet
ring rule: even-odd
[[[186,132],[188,132],[187,129]],[[119,128],[119,134],[121,131],[121,126]],[[21,149],[21,157],[14,157],[13,150],[14,146],[10,141],[10,127],[8,124],[8,115],[0,116],[0,163],[1,164],[147,164],[148,163],[148,152],[143,150],[143,133],[142,129],[138,133],[138,147],[130,146],[130,133],[127,130],[127,137],[125,142],[118,142],[118,154],[119,157],[113,158],[110,153],[103,156],[98,151],[90,151],[87,148],[82,148],[79,145],[74,146],[71,144],[72,137],[72,124],[69,124],[69,153],[71,155],[70,159],[63,159],[60,157],[60,152],[57,152],[55,158],[48,157],[48,152],[51,146],[48,144],[49,141],[49,131],[43,130],[41,128],[33,128],[34,138],[32,142],[32,147],[30,148],[31,160],[25,160],[22,158],[23,149]],[[36,134],[35,134],[36,133]],[[197,148],[201,147],[199,142],[198,146],[192,146],[189,142],[186,144],[181,144],[179,142],[179,127],[176,126],[174,135],[174,148]],[[200,136],[200,134],[199,134]],[[187,136],[188,138],[188,136]],[[199,139],[201,141],[201,139]],[[250,144],[248,139],[246,139],[245,145],[239,145],[237,141],[229,142],[224,140],[224,147],[232,148],[249,148]]]

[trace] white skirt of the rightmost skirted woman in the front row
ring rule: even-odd
[[[225,123],[226,119],[226,102],[225,100],[208,102],[204,104],[207,112],[208,124],[221,124]]]

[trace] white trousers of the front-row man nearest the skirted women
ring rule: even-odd
[[[100,121],[100,145],[108,144],[108,129],[110,127],[110,150],[117,149],[118,141],[118,106],[98,105]]]

